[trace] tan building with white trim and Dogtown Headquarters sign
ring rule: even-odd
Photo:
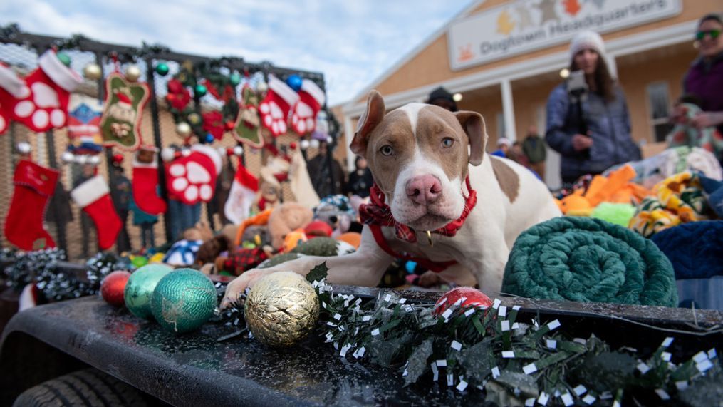
[[[633,138],[643,153],[654,150],[696,58],[697,21],[722,10],[723,0],[476,1],[341,106],[346,145],[369,90],[379,90],[393,109],[426,100],[440,85],[461,93],[461,110],[482,113],[490,151],[498,137],[522,140],[531,125],[544,134],[545,104],[570,63],[570,38],[595,30],[628,97]],[[352,168],[349,151],[347,160]],[[559,156],[551,151],[546,173],[549,187],[558,187]]]

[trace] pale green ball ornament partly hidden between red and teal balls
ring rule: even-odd
[[[173,271],[167,265],[145,265],[135,270],[128,278],[123,292],[126,307],[136,317],[150,318],[150,299],[161,278]]]

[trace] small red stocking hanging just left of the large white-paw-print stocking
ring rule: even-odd
[[[166,212],[166,201],[158,196],[158,151],[155,147],[140,147],[133,158],[133,199],[145,213],[160,215]]]

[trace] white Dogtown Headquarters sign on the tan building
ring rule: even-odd
[[[679,14],[680,0],[518,0],[454,22],[450,67],[464,69]]]

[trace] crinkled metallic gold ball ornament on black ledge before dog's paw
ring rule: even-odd
[[[319,297],[301,275],[271,273],[249,292],[246,325],[267,346],[291,346],[306,338],[319,320]]]

